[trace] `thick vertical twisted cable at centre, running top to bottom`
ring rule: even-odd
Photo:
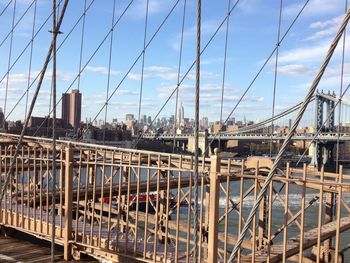
[[[202,2],[197,0],[197,49],[196,49],[196,97],[195,97],[195,153],[194,153],[194,262],[198,262],[198,159],[199,159],[199,93],[200,93],[200,57],[201,57],[201,10]]]

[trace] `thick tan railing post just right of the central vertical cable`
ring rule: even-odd
[[[208,229],[208,263],[216,263],[218,255],[218,219],[219,219],[219,198],[220,172],[219,150],[214,150],[210,158],[210,203],[209,203],[209,229]]]

